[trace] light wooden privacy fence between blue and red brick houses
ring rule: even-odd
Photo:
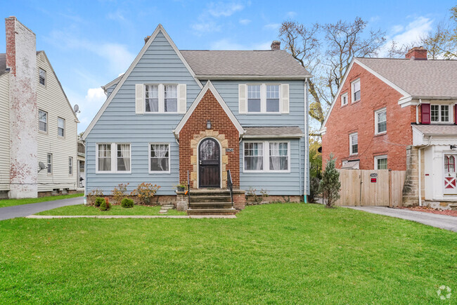
[[[406,171],[388,169],[338,169],[340,172],[340,206],[392,206],[402,203]]]

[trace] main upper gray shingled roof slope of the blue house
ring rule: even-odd
[[[278,51],[183,50],[181,54],[199,76],[292,76],[311,74],[290,54]]]

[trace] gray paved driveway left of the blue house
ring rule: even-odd
[[[12,219],[15,217],[25,217],[38,212],[46,211],[48,209],[56,209],[56,207],[65,207],[66,205],[82,205],[83,203],[84,197],[75,197],[68,199],[30,203],[28,205],[1,207],[0,220]]]

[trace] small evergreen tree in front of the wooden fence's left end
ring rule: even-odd
[[[327,160],[326,169],[322,173],[322,180],[319,183],[319,192],[327,199],[326,207],[333,207],[335,201],[340,198],[340,173],[335,169],[335,158],[330,155]]]

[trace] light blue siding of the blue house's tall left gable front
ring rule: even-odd
[[[86,191],[100,188],[110,193],[119,183],[130,183],[133,190],[139,183],[161,186],[157,195],[174,195],[179,179],[179,147],[173,129],[183,115],[135,114],[135,84],[186,84],[187,108],[200,92],[195,79],[160,32],[139,63],[101,115],[86,138]],[[131,143],[132,174],[96,174],[96,143]],[[149,174],[149,143],[170,144],[170,174]]]

